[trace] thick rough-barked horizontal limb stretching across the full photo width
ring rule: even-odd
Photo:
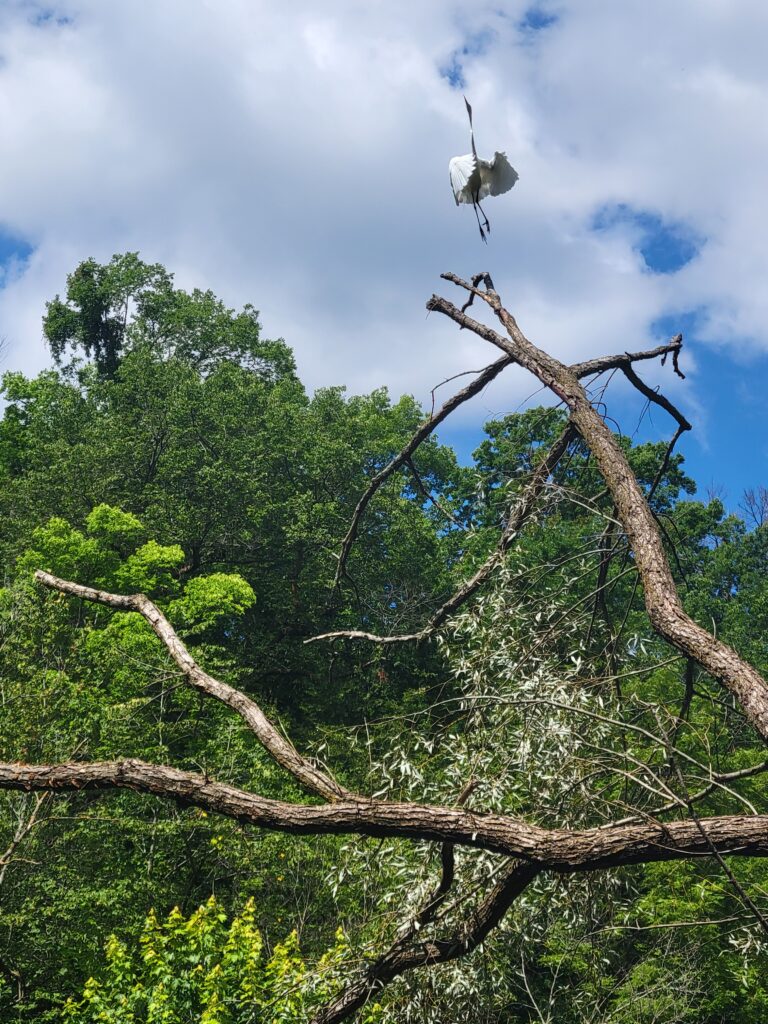
[[[725,815],[693,821],[642,821],[573,831],[542,828],[504,814],[431,804],[339,801],[310,806],[270,800],[195,772],[143,761],[0,764],[0,790],[133,790],[300,835],[356,835],[475,847],[568,874],[621,864],[709,855],[768,856],[768,815]]]

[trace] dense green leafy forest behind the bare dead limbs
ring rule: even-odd
[[[140,758],[301,799],[243,723],[183,685],[140,616],[51,595],[42,568],[150,595],[208,672],[360,792],[455,799],[472,778],[478,809],[571,826],[685,807],[701,781],[691,813],[760,803],[759,737],[654,635],[580,443],[439,637],[304,642],[424,626],[496,550],[562,412],[486,424],[469,466],[427,438],[376,495],[334,586],[360,495],[423,420],[413,399],[308,397],[252,308],[178,289],[135,254],[77,267],[44,330],[56,369],[3,383],[4,761]],[[686,609],[765,671],[765,489],[729,514],[693,497],[666,441],[622,445]],[[529,712],[505,710],[521,699]],[[673,750],[693,765],[685,780]],[[739,781],[721,784],[728,773]],[[7,1019],[241,1024],[262,1019],[254,999],[264,1020],[302,1019],[435,869],[430,844],[254,831],[139,795],[8,794],[2,813]],[[459,913],[498,869],[463,865]],[[401,980],[370,1019],[761,1020],[765,870],[699,855],[551,876],[480,950]]]

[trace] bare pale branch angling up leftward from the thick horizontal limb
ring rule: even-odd
[[[119,611],[135,611],[142,615],[152,627],[156,636],[165,644],[169,654],[183,672],[186,681],[196,690],[214,697],[226,705],[248,724],[261,744],[274,758],[279,765],[289,771],[302,785],[325,800],[343,800],[352,796],[341,786],[336,779],[321,771],[315,765],[303,758],[293,743],[281,735],[261,708],[233,686],[228,686],[213,676],[209,676],[200,668],[184,644],[178,638],[176,631],[165,617],[160,608],[143,594],[111,594],[93,587],[83,587],[69,580],[59,580],[38,569],[35,578],[50,587],[51,590],[81,597],[85,601],[96,601]]]

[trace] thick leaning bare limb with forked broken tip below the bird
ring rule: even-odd
[[[528,341],[515,318],[502,305],[488,274],[481,275],[483,289],[456,274],[444,273],[442,276],[486,302],[508,337],[468,316],[440,296],[433,295],[427,309],[443,313],[460,327],[468,328],[501,348],[565,403],[570,422],[592,452],[613,499],[635,555],[643,584],[645,607],[654,629],[730,690],[763,739],[768,740],[768,684],[732,647],[702,629],[684,611],[645,496],[613,434],[592,408],[574,372]],[[475,282],[479,283],[479,280],[475,279]]]

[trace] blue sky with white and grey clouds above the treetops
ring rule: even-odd
[[[648,379],[735,506],[768,483],[767,47],[764,0],[0,0],[2,369],[48,364],[44,302],[81,259],[138,250],[252,302],[308,387],[427,402],[495,353],[425,301],[488,269],[561,358],[683,331],[686,381]],[[520,175],[487,246],[447,184],[463,92]],[[449,439],[534,391],[510,374]]]

